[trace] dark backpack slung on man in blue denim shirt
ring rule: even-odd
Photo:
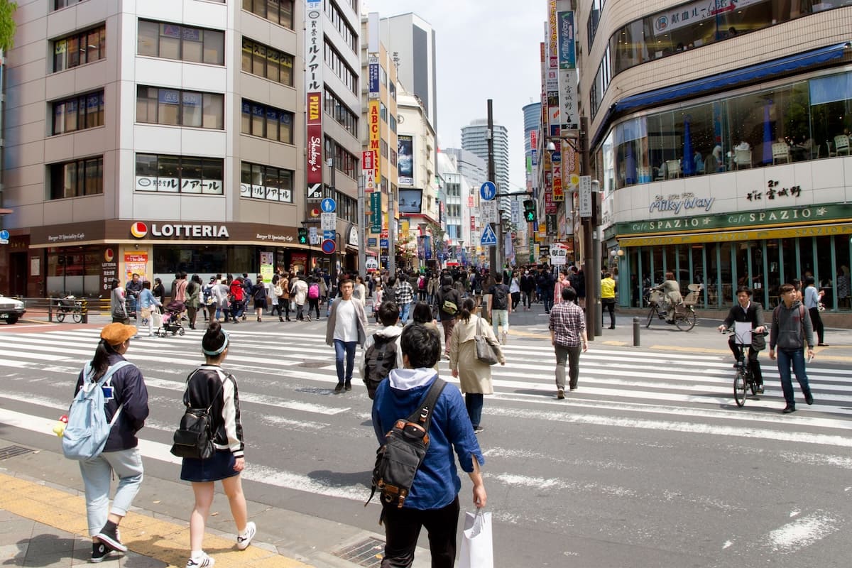
[[[429,393],[426,393],[423,402],[414,410],[412,416],[407,419],[400,418],[390,432],[385,434],[385,443],[376,450],[372,491],[370,498],[364,503],[365,507],[378,489],[383,503],[402,508],[414,485],[417,468],[420,468],[426,450],[429,450],[432,410],[435,409],[435,402],[445,386],[446,382],[435,378],[435,382],[429,387]]]

